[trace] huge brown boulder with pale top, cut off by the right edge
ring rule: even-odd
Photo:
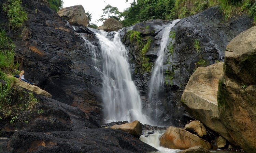
[[[256,150],[256,27],[232,39],[219,80],[219,119],[247,153]]]

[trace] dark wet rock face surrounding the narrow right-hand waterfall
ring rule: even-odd
[[[162,93],[162,99],[150,102],[147,98],[151,72],[142,70],[139,56],[140,48],[125,39],[125,33],[129,30],[140,31],[144,42],[148,38],[153,38],[154,42],[145,56],[150,58],[150,62],[155,62],[162,29],[170,23],[170,21],[161,20],[137,23],[134,26],[124,28],[120,35],[129,49],[131,74],[144,101],[144,110],[148,112],[149,116],[156,118],[158,125],[184,127],[186,121],[192,117],[182,107],[180,99],[190,75],[193,74],[197,67],[223,61],[225,47],[228,42],[240,32],[250,28],[252,19],[247,15],[242,15],[227,22],[219,9],[212,7],[199,14],[181,19],[176,23],[172,29],[175,38],[173,40],[169,39],[169,41],[172,40],[170,44],[173,45],[173,50],[170,51],[170,48],[167,48],[164,55],[163,74],[164,80],[167,81],[165,91]],[[149,26],[147,27],[148,31],[146,26]],[[171,35],[170,37],[172,37]],[[198,51],[195,47],[196,43],[200,46]],[[172,79],[170,79],[170,76]],[[156,107],[158,109],[157,113],[151,113],[156,112]]]

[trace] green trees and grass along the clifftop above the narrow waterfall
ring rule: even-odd
[[[126,27],[149,19],[185,18],[212,6],[219,6],[227,21],[243,12],[250,14],[256,21],[256,0],[133,0],[120,17],[124,17],[121,22]]]

